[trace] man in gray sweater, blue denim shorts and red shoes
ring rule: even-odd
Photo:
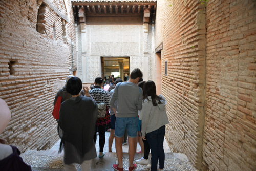
[[[142,109],[143,92],[137,86],[139,79],[143,76],[140,69],[136,68],[131,72],[130,79],[127,82],[116,84],[114,93],[110,100],[110,106],[116,115],[115,124],[115,142],[118,164],[112,167],[117,170],[123,170],[122,162],[122,143],[125,129],[127,128],[128,144],[129,144],[129,171],[137,168],[133,164],[135,149],[135,137],[138,130],[138,110]],[[117,100],[117,109],[115,109],[115,101]]]

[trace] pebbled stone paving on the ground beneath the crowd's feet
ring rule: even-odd
[[[105,156],[101,159],[98,157],[95,158],[92,162],[91,170],[92,171],[107,171],[114,170],[112,168],[112,164],[118,163],[117,156],[115,153],[115,143],[113,142],[112,151],[113,153],[108,152],[108,137],[109,132],[106,132],[106,143],[104,147]],[[21,156],[23,160],[31,165],[32,170],[49,170],[49,171],[62,171],[63,169],[63,152],[58,154],[58,146],[59,142],[55,144],[50,150],[46,151],[36,151],[36,150],[28,150],[23,153]],[[98,138],[96,142],[96,149],[98,152]],[[172,153],[166,143],[164,142],[165,149],[165,165],[164,170],[166,171],[175,171],[175,170],[191,170],[196,171],[193,165],[189,162],[187,157],[184,154],[180,153]],[[124,170],[127,171],[129,167],[129,156],[128,156],[128,145],[123,146],[123,167]],[[137,152],[140,151],[139,144],[137,145]],[[140,159],[142,153],[136,153],[134,160]],[[151,155],[150,155],[151,157]],[[76,164],[77,170],[81,170],[80,165]],[[146,168],[146,165],[138,164],[136,169],[137,171],[148,171],[150,169]]]

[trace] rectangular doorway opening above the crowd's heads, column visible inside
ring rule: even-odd
[[[114,78],[124,77],[129,79],[130,73],[130,57],[101,57],[102,78],[114,75]]]

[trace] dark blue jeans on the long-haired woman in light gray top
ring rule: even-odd
[[[146,139],[148,144],[150,144],[151,149],[151,171],[157,170],[157,163],[159,160],[159,168],[164,167],[164,149],[163,141],[165,135],[165,125],[159,129],[146,134]]]

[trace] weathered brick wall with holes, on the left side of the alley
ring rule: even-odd
[[[46,34],[36,30],[42,2],[47,4]],[[64,1],[58,3],[60,8],[51,1],[0,1],[0,98],[12,113],[0,137],[23,152],[49,148],[58,140],[53,100],[70,74],[71,39],[75,42],[71,2],[66,4],[70,17],[59,10],[66,11]],[[63,38],[62,17],[68,20],[67,38]]]

